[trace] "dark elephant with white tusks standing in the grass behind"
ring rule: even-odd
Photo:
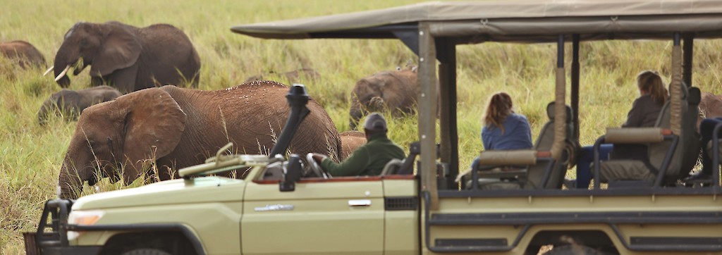
[[[68,87],[66,72],[87,66],[92,84],[115,86],[123,93],[165,84],[198,86],[201,61],[191,40],[170,24],[134,27],[120,22],[78,22],[65,34],[55,55],[56,82]]]

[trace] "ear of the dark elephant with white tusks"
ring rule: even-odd
[[[91,76],[106,76],[118,69],[133,66],[143,49],[138,37],[130,30],[112,24],[110,27],[92,60]]]

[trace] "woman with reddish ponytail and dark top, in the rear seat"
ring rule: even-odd
[[[637,88],[640,97],[632,103],[632,109],[627,113],[627,121],[622,124],[622,128],[653,127],[659,112],[669,97],[657,71],[647,70],[639,73]],[[576,182],[566,182],[567,187],[576,186],[579,189],[588,189],[591,182],[590,164],[594,160],[593,158],[593,146],[583,147],[577,161]],[[605,161],[609,158],[648,161],[647,146],[642,144],[602,144],[599,148],[599,159]]]

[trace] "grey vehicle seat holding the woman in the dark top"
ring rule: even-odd
[[[653,187],[655,182],[659,184],[670,185],[677,182],[677,179],[689,174],[694,167],[699,154],[699,134],[696,130],[698,109],[700,102],[700,90],[697,88],[687,88],[682,84],[682,125],[681,132],[677,135],[679,139],[677,146],[671,148],[672,140],[662,140],[658,143],[648,144],[649,161],[638,160],[609,160],[599,164],[600,181],[608,182],[609,188],[614,187]],[[667,101],[662,107],[657,117],[655,128],[669,130],[670,128],[670,101]],[[635,128],[620,128],[617,130],[633,130]],[[673,150],[674,149],[674,150]],[[667,154],[671,153],[667,158]],[[656,173],[662,171],[664,162],[668,162],[664,176],[658,176]],[[622,170],[624,169],[624,170]],[[622,170],[622,171],[620,171]],[[651,174],[643,176],[635,175],[649,171]],[[660,179],[660,181],[657,181]]]

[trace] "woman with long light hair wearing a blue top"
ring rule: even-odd
[[[531,148],[531,127],[524,115],[514,112],[509,94],[499,92],[489,99],[484,128],[484,150],[518,150]]]

